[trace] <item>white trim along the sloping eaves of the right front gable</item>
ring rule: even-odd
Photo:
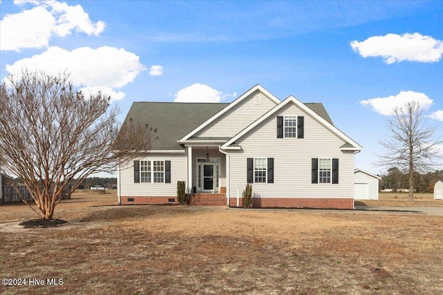
[[[338,130],[332,124],[332,121],[328,122],[328,120],[326,120],[322,116],[318,115],[318,113],[313,111],[306,104],[303,104],[302,102],[300,102],[300,100],[296,99],[296,97],[294,97],[293,95],[290,95],[289,97],[287,97],[287,99],[284,99],[284,101],[282,101],[280,104],[278,104],[274,108],[271,108],[270,111],[268,111],[267,113],[262,115],[262,117],[260,117],[255,122],[253,122],[253,124],[247,126],[245,129],[243,129],[242,131],[237,133],[237,135],[235,135],[230,140],[225,142],[221,146],[221,149],[230,149],[230,145],[235,143],[236,140],[238,140],[240,137],[242,137],[243,135],[245,135],[246,133],[251,131],[251,129],[253,129],[255,126],[257,126],[258,124],[260,124],[261,122],[266,120],[266,118],[268,118],[269,116],[273,115],[273,113],[275,113],[276,111],[280,110],[283,106],[286,106],[289,103],[295,104],[298,108],[300,108],[302,111],[307,113],[307,115],[310,115],[312,118],[314,118],[314,120],[316,120],[317,122],[319,122],[320,124],[325,126],[326,129],[328,129],[329,131],[334,133],[337,137],[341,138],[341,140],[343,140],[345,142],[345,144],[350,144],[350,147],[341,147],[341,149],[347,150],[347,151],[360,151],[362,149],[360,144],[354,142],[354,140],[352,140],[350,137],[345,135],[345,133],[343,133],[340,130]],[[322,106],[323,106],[323,104],[322,104]],[[327,117],[329,117],[329,115],[327,115]],[[329,118],[329,121],[330,121],[330,118]],[[239,149],[239,146],[237,146],[237,145],[236,146],[232,146],[231,149]]]

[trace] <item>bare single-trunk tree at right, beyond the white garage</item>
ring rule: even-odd
[[[408,173],[408,202],[415,202],[414,172],[426,173],[440,165],[442,141],[435,138],[436,128],[427,124],[418,102],[408,102],[392,111],[392,119],[388,120],[390,135],[379,141],[387,151],[378,155],[377,164]]]

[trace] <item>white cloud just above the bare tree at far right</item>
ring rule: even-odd
[[[424,93],[414,91],[401,91],[397,95],[366,99],[360,103],[363,106],[371,106],[374,111],[381,115],[391,115],[395,108],[403,107],[407,102],[412,101],[418,102],[422,109],[429,108],[433,103],[433,100]]]

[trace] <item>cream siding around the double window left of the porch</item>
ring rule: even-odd
[[[146,155],[134,160],[170,160],[171,183],[134,183],[134,161],[120,169],[120,196],[177,196],[177,181],[188,180],[188,160],[186,154]]]

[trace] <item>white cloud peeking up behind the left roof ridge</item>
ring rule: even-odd
[[[177,92],[174,102],[220,102],[222,94],[208,85],[195,83]]]

